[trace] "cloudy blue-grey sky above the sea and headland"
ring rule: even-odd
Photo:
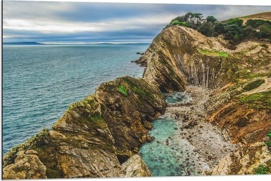
[[[218,20],[271,6],[3,1],[3,42],[150,43],[173,19],[199,12]]]

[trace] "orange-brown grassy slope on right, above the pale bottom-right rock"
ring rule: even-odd
[[[254,144],[271,130],[270,76],[268,71],[246,73],[212,93],[208,121],[227,130],[232,143]]]

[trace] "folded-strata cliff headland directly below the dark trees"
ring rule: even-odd
[[[185,85],[219,88],[239,67],[249,64],[245,57],[250,53],[252,60],[267,59],[267,50],[258,43],[242,43],[236,50],[229,50],[227,44],[222,37],[171,26],[157,35],[137,63],[146,66],[146,81],[172,92],[184,91]]]

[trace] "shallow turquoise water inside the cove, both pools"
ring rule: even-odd
[[[191,101],[192,97],[186,92],[173,92],[166,100],[172,104]],[[199,155],[186,139],[180,138],[179,122],[165,115],[151,123],[153,129],[149,135],[155,140],[143,144],[139,152],[152,176],[200,175]]]

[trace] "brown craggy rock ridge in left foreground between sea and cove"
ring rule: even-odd
[[[123,177],[131,170],[150,176],[141,157],[133,155],[145,141],[149,121],[164,114],[166,105],[163,94],[143,79],[103,83],[94,95],[71,104],[53,130],[43,129],[8,151],[3,179]],[[122,168],[128,158],[138,165],[135,170],[129,164]]]

